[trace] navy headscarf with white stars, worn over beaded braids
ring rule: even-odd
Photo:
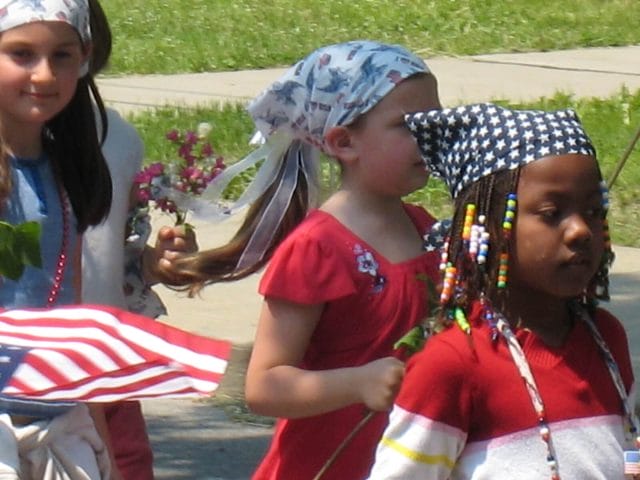
[[[405,117],[427,168],[453,198],[478,179],[549,155],[595,156],[576,112],[509,110],[490,103]]]

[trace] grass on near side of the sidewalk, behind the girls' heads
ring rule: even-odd
[[[514,108],[574,108],[596,145],[605,178],[610,178],[640,125],[640,91],[630,93],[623,90],[606,99],[576,99],[557,94],[526,104],[500,103]],[[164,108],[136,114],[130,120],[143,137],[148,162],[175,159],[175,147],[164,139],[164,133],[173,128],[194,130],[202,121],[214,125],[213,146],[225,157],[227,164],[251,150],[247,142],[253,132],[252,122],[239,105]],[[610,217],[614,242],[636,247],[640,247],[640,204],[637,201],[640,198],[639,164],[640,145],[627,160],[612,188]],[[439,181],[431,180],[427,188],[412,194],[409,200],[424,205],[436,216],[450,215],[449,197]]]

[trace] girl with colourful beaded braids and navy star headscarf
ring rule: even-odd
[[[442,331],[409,360],[370,479],[629,478],[627,337],[597,307],[607,192],[575,112],[479,104],[407,122],[456,208]]]

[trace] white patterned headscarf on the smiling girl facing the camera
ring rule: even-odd
[[[31,22],[65,22],[91,41],[87,0],[0,0],[0,32]]]

